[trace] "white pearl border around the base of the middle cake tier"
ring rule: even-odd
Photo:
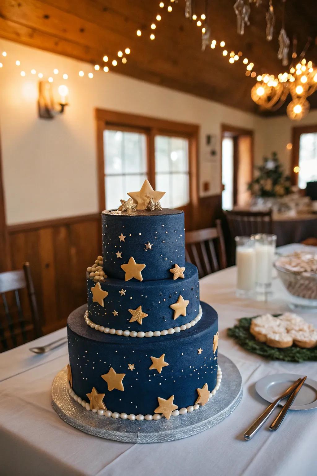
[[[164,330],[150,330],[147,332],[139,331],[136,332],[136,330],[121,330],[121,329],[110,329],[109,327],[105,326],[99,326],[99,324],[95,324],[92,320],[89,319],[89,311],[85,311],[84,314],[84,319],[87,324],[87,326],[91,327],[92,329],[99,330],[100,332],[104,332],[105,334],[116,334],[117,336],[125,336],[125,337],[159,337],[159,336],[166,336],[167,334],[174,334],[175,332],[181,332],[182,330],[190,329],[193,327],[195,324],[197,324],[198,321],[201,320],[202,318],[202,306],[199,305],[199,313],[197,316],[192,319],[191,322],[188,322],[187,324],[183,324],[180,327],[171,327],[170,329],[164,329]]]

